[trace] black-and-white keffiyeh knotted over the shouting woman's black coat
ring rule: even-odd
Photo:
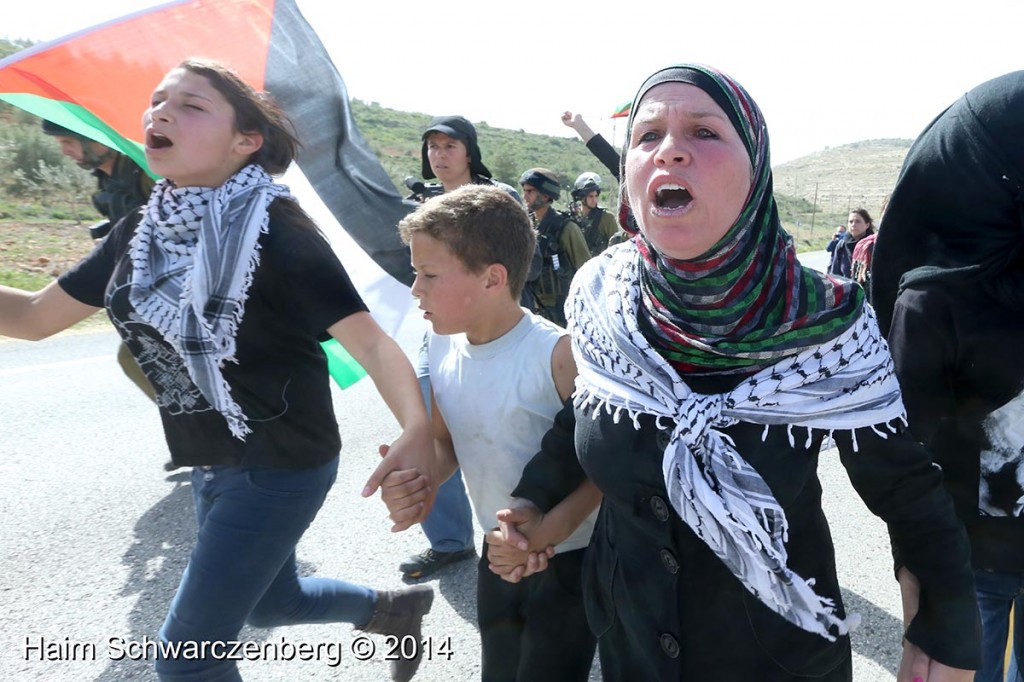
[[[635,244],[612,247],[577,274],[566,311],[579,369],[574,403],[597,418],[624,414],[671,428],[663,472],[676,512],[743,586],[786,621],[834,641],[858,619],[836,614],[813,580],[786,565],[785,514],[722,429],[739,421],[794,429],[885,428],[903,420],[899,385],[874,313],[863,306],[836,338],[743,380],[727,393],[693,392],[637,325],[642,292]],[[674,426],[673,426],[674,425]],[[880,428],[881,427],[881,428]],[[856,449],[856,438],[854,438]]]

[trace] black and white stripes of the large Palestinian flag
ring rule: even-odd
[[[394,336],[413,303],[413,267],[397,225],[416,205],[402,200],[359,132],[341,74],[294,0],[274,2],[265,87],[301,141],[285,182]]]

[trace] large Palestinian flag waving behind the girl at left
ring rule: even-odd
[[[341,76],[295,0],[177,0],[34,46],[0,60],[0,99],[145,168],[142,113],[164,75],[187,57],[226,63],[273,94],[302,142],[298,168],[284,181],[394,333],[411,308],[414,276],[395,226],[413,206],[356,129]],[[361,373],[337,343],[325,350],[340,351],[334,369]]]

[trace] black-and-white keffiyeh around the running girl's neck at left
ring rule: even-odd
[[[254,164],[218,187],[161,180],[132,240],[132,305],[181,355],[197,388],[240,440],[251,429],[221,368],[234,361],[267,209],[289,196]]]

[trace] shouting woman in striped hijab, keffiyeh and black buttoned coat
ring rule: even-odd
[[[640,88],[628,135],[620,215],[639,233],[573,281],[574,404],[499,515],[510,542],[544,549],[509,524],[583,475],[603,492],[584,598],[607,680],[850,680],[816,475],[830,434],[903,567],[900,682],[971,679],[963,524],[904,428],[863,291],[802,267],[782,230],[757,104],[673,67]]]

